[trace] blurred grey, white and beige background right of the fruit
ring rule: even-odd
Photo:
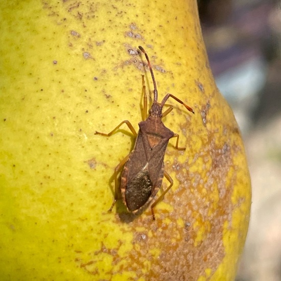
[[[281,280],[281,1],[198,0],[210,67],[239,123],[252,181],[236,281]]]

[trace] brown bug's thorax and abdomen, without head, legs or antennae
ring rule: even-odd
[[[138,126],[135,146],[121,179],[123,201],[130,212],[136,212],[158,192],[164,174],[163,158],[169,139],[174,136],[161,118],[149,116]]]

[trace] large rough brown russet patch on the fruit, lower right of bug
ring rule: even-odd
[[[204,269],[210,268],[215,271],[221,263],[224,256],[223,223],[231,221],[233,207],[230,200],[232,187],[227,186],[225,182],[228,168],[232,166],[231,148],[227,143],[220,147],[211,141],[210,146],[205,147],[200,157],[205,157],[206,162],[207,158],[211,157],[212,165],[206,177],[193,174],[193,177],[197,178],[193,183],[193,189],[191,181],[186,181],[186,178],[190,177],[188,163],[180,164],[175,158],[173,167],[179,171],[177,179],[180,186],[174,193],[170,191],[165,198],[165,201],[174,207],[172,213],[159,210],[157,213],[160,218],[157,218],[156,222],[149,217],[139,217],[131,223],[132,229],[139,225],[147,229],[142,232],[133,231],[134,249],[130,251],[129,257],[132,261],[131,270],[135,271],[137,276],[150,280],[197,280]],[[167,169],[170,170],[169,167]],[[235,177],[234,173],[233,181]],[[213,190],[214,182],[219,183],[220,200],[217,208],[210,205],[211,200],[206,198],[217,192]],[[207,195],[204,195],[202,189],[206,189]],[[168,224],[164,222],[167,217],[171,220]],[[198,221],[198,217],[209,225],[209,229],[204,233],[205,238],[196,244],[198,229],[193,225]],[[176,223],[178,219],[184,222],[182,226]],[[151,253],[151,249],[154,248],[159,249],[158,256]],[[142,268],[139,267],[141,259],[152,264],[148,275],[142,274]]]

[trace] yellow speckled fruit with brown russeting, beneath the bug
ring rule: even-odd
[[[1,3],[0,275],[3,280],[233,280],[250,212],[239,128],[216,88],[196,1]],[[174,185],[139,217],[113,199],[142,120],[143,45],[159,100]],[[147,89],[152,89],[146,72]],[[192,115],[192,116],[191,116]],[[171,140],[173,144],[173,140]],[[164,181],[163,188],[167,187]]]

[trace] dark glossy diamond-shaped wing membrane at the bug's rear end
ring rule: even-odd
[[[127,183],[125,190],[127,208],[133,212],[142,207],[149,200],[152,189],[153,183],[146,165]]]

